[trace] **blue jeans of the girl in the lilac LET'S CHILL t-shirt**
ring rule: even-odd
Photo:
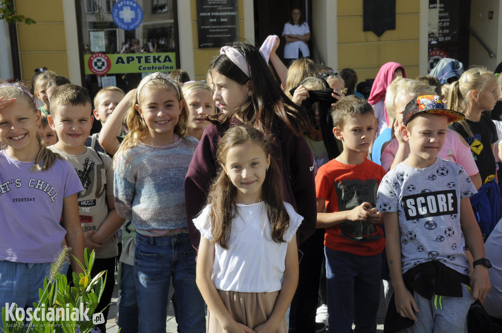
[[[38,289],[51,272],[51,263],[33,264],[0,260],[0,313],[5,303],[19,308],[33,307],[40,300]],[[10,305],[10,304],[9,304]],[[0,331],[4,328],[0,320]]]

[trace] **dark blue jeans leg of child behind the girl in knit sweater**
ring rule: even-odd
[[[118,304],[118,326],[122,333],[138,331],[138,293],[136,292],[136,279],[134,266],[122,264],[122,277],[120,280],[120,303]]]

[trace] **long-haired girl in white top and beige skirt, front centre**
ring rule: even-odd
[[[251,126],[230,128],[218,145],[222,169],[208,205],[194,219],[202,235],[197,285],[211,333],[287,332],[285,314],[298,283],[295,232],[303,218],[283,201],[271,144]]]

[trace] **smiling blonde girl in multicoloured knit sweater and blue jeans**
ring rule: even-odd
[[[205,330],[195,284],[183,181],[197,139],[186,136],[188,112],[176,82],[163,73],[141,80],[126,118],[129,133],[114,155],[117,213],[136,228],[134,275],[139,331],[165,333],[169,283],[183,333]]]

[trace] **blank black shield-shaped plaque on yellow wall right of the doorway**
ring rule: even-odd
[[[382,36],[396,29],[396,0],[363,0],[362,31],[372,31]]]

